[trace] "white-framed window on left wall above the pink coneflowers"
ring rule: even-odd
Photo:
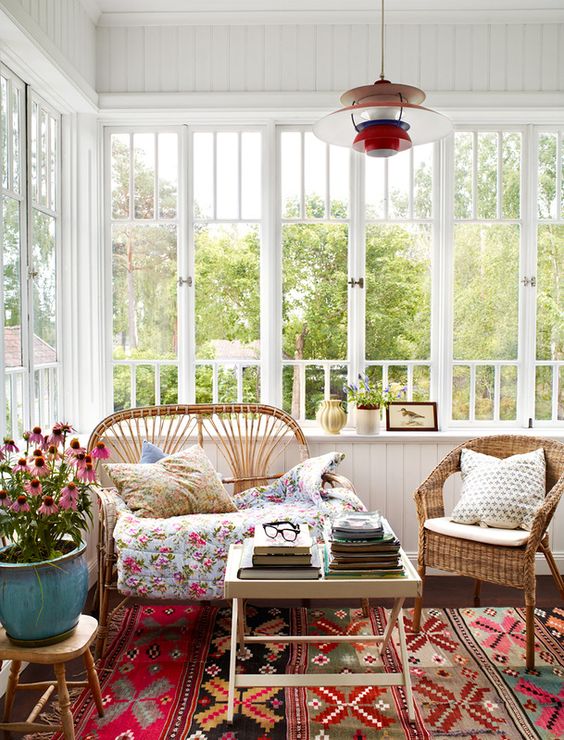
[[[0,111],[3,428],[17,438],[59,415],[60,117],[5,67]]]

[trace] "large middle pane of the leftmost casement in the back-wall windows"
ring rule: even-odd
[[[112,247],[114,358],[176,357],[176,227],[116,224]]]

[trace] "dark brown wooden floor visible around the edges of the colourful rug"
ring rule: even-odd
[[[429,576],[425,583],[424,606],[439,608],[455,608],[473,605],[473,581],[468,578],[451,576]],[[484,583],[481,595],[482,606],[522,606],[523,594],[512,588],[504,588],[493,584]],[[387,606],[387,604],[384,604]],[[559,594],[550,576],[539,576],[537,578],[537,606],[551,607],[562,605]],[[49,667],[30,665],[24,671],[23,681],[45,681],[52,677]],[[67,665],[67,678],[69,680],[82,680],[84,667],[81,660]],[[25,719],[33,708],[38,695],[35,692],[20,692],[16,696],[16,704],[12,719]],[[3,702],[2,702],[3,704]],[[18,734],[8,736],[0,731],[0,740],[21,737]]]

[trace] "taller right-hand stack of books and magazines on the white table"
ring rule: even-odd
[[[352,512],[333,522],[326,578],[398,578],[400,542],[379,512]]]

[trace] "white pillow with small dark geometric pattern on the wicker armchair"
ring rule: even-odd
[[[545,495],[542,447],[500,459],[463,449],[462,492],[451,515],[459,524],[526,529],[532,526]]]

